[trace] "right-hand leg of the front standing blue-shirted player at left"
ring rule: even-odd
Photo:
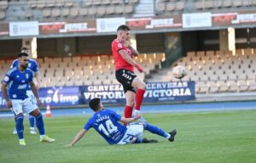
[[[36,126],[38,127],[40,141],[49,142],[49,143],[54,142],[55,139],[49,138],[48,136],[45,135],[44,119],[43,119],[43,115],[38,109],[38,106],[32,104],[32,101],[29,100],[29,98],[26,98],[24,108],[25,108],[24,110],[26,110],[27,113],[29,113],[30,115],[33,115],[36,119]]]

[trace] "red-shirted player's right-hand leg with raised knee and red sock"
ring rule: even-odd
[[[140,80],[138,77],[134,78],[134,80],[131,83],[132,87],[136,87],[136,105],[135,105],[135,114],[139,114],[139,111],[141,110],[141,105],[143,103],[144,93],[146,91],[146,83]]]

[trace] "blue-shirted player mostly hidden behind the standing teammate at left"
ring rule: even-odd
[[[23,47],[23,48],[20,49],[20,52],[29,54],[29,49],[26,48],[26,47]],[[18,59],[15,59],[10,68],[14,68],[15,66],[18,66],[18,65],[19,65]],[[29,59],[28,68],[34,72],[34,78],[36,78],[37,87],[39,88],[40,87],[40,76],[39,76],[37,61],[34,60],[34,59]],[[37,104],[36,98],[34,97],[34,94],[32,93],[32,90],[31,90],[30,86],[27,87],[26,94],[27,94],[28,98],[31,98],[31,100],[34,101],[34,104]],[[37,134],[37,132],[35,130],[35,118],[32,115],[29,115],[28,120],[29,120],[29,125],[30,125],[30,133],[31,134]],[[15,121],[16,121],[16,119],[15,119]],[[15,127],[13,133],[17,134],[16,127]]]

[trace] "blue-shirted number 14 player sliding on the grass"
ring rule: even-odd
[[[113,110],[103,110],[103,104],[100,98],[94,98],[90,101],[90,108],[96,113],[92,115],[89,121],[86,122],[84,128],[73,138],[72,143],[67,146],[73,146],[84,136],[84,133],[88,132],[93,127],[96,132],[102,135],[102,137],[109,144],[126,144],[126,143],[156,143],[156,140],[148,140],[143,137],[143,130],[157,134],[163,138],[168,139],[170,142],[174,141],[174,137],[177,130],[174,129],[172,132],[165,132],[160,127],[149,124],[148,122],[137,122],[140,115],[136,115],[133,118],[125,118],[118,115]],[[120,122],[127,124],[122,125]]]

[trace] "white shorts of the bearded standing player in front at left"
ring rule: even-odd
[[[33,104],[32,100],[30,98],[26,98],[24,100],[22,99],[11,99],[11,102],[13,104],[13,112],[15,115],[18,115],[20,113],[26,113],[29,114],[33,110],[38,109],[37,104]]]

